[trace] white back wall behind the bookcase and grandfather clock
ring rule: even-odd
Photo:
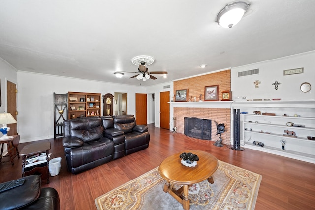
[[[72,92],[106,93],[126,92],[128,114],[135,115],[135,93],[146,93],[140,86],[59,77],[19,71],[18,74],[18,133],[21,142],[54,138],[53,93]]]

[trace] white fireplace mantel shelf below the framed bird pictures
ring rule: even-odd
[[[233,101],[168,102],[172,107],[231,108]]]

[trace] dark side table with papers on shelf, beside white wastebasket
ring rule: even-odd
[[[48,151],[50,150],[50,142],[39,142],[36,144],[26,145],[20,152],[22,156],[22,177],[37,174],[41,177],[41,180],[47,179],[49,183],[49,156]],[[39,164],[36,162],[27,166],[26,159],[34,155],[40,155],[46,153],[46,161],[41,161]]]

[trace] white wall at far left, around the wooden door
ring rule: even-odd
[[[17,84],[17,70],[7,63],[5,60],[0,58],[0,78],[1,78],[1,98],[2,105],[0,112],[7,111],[7,81]],[[18,86],[17,86],[18,87]],[[2,127],[2,126],[1,126]]]

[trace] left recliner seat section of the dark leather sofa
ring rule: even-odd
[[[100,118],[64,120],[63,147],[69,171],[77,174],[113,160],[114,142],[103,133]]]

